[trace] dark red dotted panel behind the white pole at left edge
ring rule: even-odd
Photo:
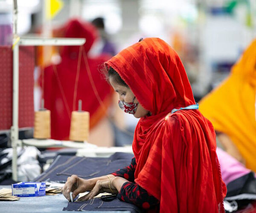
[[[19,128],[34,126],[34,48],[20,46]],[[0,46],[0,130],[12,126],[12,47]]]

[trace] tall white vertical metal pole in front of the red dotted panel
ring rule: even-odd
[[[13,1],[13,43],[17,38],[17,0]],[[11,127],[11,141],[12,141],[12,179],[17,181],[17,141],[19,139],[18,131],[18,116],[19,116],[19,44],[17,43],[13,48],[13,96],[12,96],[12,127]]]

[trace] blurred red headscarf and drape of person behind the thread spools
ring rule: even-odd
[[[44,100],[45,108],[51,111],[51,136],[57,140],[68,140],[70,115],[73,110],[78,110],[79,99],[82,100],[82,110],[90,112],[90,128],[94,127],[106,113],[93,92],[87,68],[89,67],[90,69],[96,89],[103,104],[105,104],[105,108],[111,103],[113,90],[102,79],[98,71],[98,66],[110,57],[108,55],[99,55],[94,58],[87,57],[87,52],[98,35],[96,28],[90,23],[72,19],[59,30],[62,32],[63,37],[86,39],[86,43],[83,45],[83,54],[81,55],[75,109],[73,109],[73,99],[75,96],[74,90],[80,47],[61,47],[61,63],[56,66],[50,65],[44,70]],[[86,58],[85,60],[84,57]],[[87,61],[88,66],[85,61]]]

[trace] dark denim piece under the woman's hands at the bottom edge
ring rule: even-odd
[[[64,211],[130,211],[131,213],[142,213],[137,206],[116,199],[116,196],[105,198],[94,198],[88,201],[69,202]]]

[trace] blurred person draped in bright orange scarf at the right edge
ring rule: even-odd
[[[224,149],[256,172],[256,40],[220,86],[199,103]]]

